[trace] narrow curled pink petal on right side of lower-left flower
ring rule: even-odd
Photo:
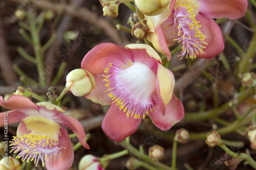
[[[77,135],[83,147],[90,149],[89,145],[86,143],[86,133],[84,133],[83,127],[77,119],[63,114],[53,116],[52,118],[58,124],[69,127]]]

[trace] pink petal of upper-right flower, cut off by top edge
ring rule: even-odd
[[[246,10],[247,0],[198,0],[199,13],[207,18],[241,18]]]

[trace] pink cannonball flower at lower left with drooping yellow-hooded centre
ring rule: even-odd
[[[61,125],[69,127],[84,148],[86,134],[77,119],[63,115],[60,107],[49,102],[34,104],[21,95],[12,95],[7,101],[0,96],[0,106],[11,111],[0,113],[0,127],[19,123],[17,136],[11,141],[11,152],[22,161],[39,160],[47,169],[69,169],[74,160],[74,151],[68,132]],[[61,124],[61,125],[59,125]]]

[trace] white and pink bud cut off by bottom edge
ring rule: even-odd
[[[83,156],[78,164],[78,170],[104,170],[98,161],[98,158],[93,155]]]

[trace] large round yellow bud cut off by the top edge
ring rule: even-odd
[[[135,4],[143,14],[155,16],[168,10],[170,0],[135,0]]]

